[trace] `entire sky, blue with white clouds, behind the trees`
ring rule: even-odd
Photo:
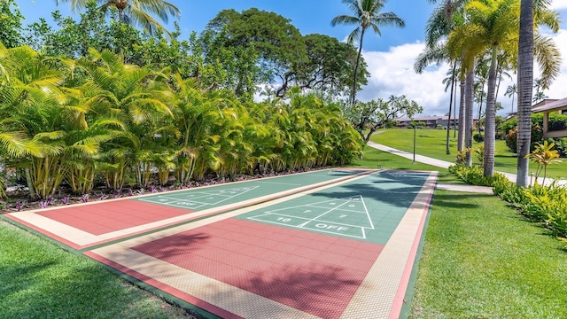
[[[340,0],[169,0],[181,10],[178,21],[182,28],[182,38],[190,32],[200,33],[206,23],[223,9],[235,9],[238,12],[255,7],[260,10],[276,12],[290,19],[291,24],[299,28],[302,35],[330,35],[344,41],[353,30],[352,26],[332,27],[330,20],[340,14],[350,14],[346,5]],[[68,4],[56,5],[55,0],[16,0],[19,10],[26,20],[24,24],[45,18],[49,21],[50,12],[59,10],[63,15],[71,15],[78,19],[77,13],[71,12]],[[567,0],[552,0],[552,8],[560,13],[561,29],[556,35],[550,35],[562,52],[561,74],[551,87],[545,91],[549,98],[567,97]],[[423,107],[422,115],[444,115],[448,111],[449,92],[445,92],[442,81],[447,77],[449,66],[430,66],[423,74],[416,74],[413,69],[416,57],[424,49],[423,33],[434,4],[427,0],[390,0],[384,5],[384,12],[394,12],[404,19],[406,26],[382,27],[381,36],[369,33],[364,37],[362,54],[368,64],[369,83],[357,94],[361,101],[387,98],[392,95],[405,95]],[[168,26],[173,25],[170,19]],[[171,27],[168,27],[171,29]],[[539,70],[534,66],[537,78]],[[506,79],[501,83],[497,100],[504,109],[499,113],[505,115],[512,111],[512,99],[504,96],[506,88],[516,82]],[[517,107],[514,102],[514,111]],[[475,105],[475,109],[477,105]]]

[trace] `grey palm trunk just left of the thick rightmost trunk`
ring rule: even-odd
[[[494,144],[496,143],[496,65],[498,64],[498,50],[493,46],[493,58],[488,74],[488,94],[486,95],[485,115],[485,176],[494,175]]]

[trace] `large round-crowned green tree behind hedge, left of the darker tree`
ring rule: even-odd
[[[258,86],[284,79],[307,62],[299,30],[275,12],[222,10],[201,37],[206,62],[224,74],[219,85],[242,99],[252,99]]]

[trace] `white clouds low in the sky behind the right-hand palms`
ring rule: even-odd
[[[565,0],[561,2],[563,4]],[[563,59],[560,75],[545,93],[549,98],[563,98],[567,97],[567,29],[562,29],[558,34],[551,36],[562,52]],[[406,43],[391,47],[386,52],[363,51],[370,77],[368,85],[363,88],[357,98],[361,101],[369,101],[380,97],[387,98],[391,95],[406,95],[408,99],[415,100],[423,106],[423,115],[446,114],[449,107],[449,92],[445,92],[445,85],[442,81],[447,77],[449,66],[447,64],[439,67],[430,66],[423,74],[416,74],[413,68],[414,62],[423,48],[423,43]],[[512,80],[502,80],[500,85],[497,100],[504,108],[501,115],[509,113],[512,105],[512,99],[504,97],[506,88],[517,81],[516,74],[510,75],[512,75]],[[536,63],[534,64],[534,77],[538,76],[540,76],[540,70]],[[517,99],[514,102],[515,110],[516,101]],[[476,108],[477,105],[475,105],[475,110]]]

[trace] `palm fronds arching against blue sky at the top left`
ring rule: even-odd
[[[70,3],[73,10],[82,10],[90,1],[97,1],[100,4],[98,9],[103,12],[111,8],[118,10],[120,22],[134,23],[148,30],[151,35],[157,30],[165,30],[151,14],[167,23],[169,15],[179,18],[181,13],[174,4],[164,0],[56,0],[56,3]]]

